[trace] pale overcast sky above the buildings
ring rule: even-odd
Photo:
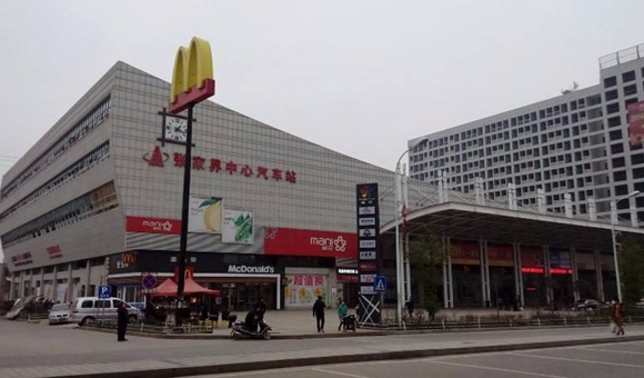
[[[644,1],[7,1],[0,175],[118,60],[170,80],[210,41],[215,102],[394,169],[409,139],[597,83]],[[1,252],[0,252],[1,253]]]

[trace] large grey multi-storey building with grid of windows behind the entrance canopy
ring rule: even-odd
[[[644,44],[600,59],[600,83],[427,135],[411,153],[410,175],[487,198],[536,207],[540,189],[549,211],[610,213],[611,201],[644,192],[644,150],[628,136],[627,107],[644,99]],[[576,87],[576,84],[575,84]],[[416,138],[417,139],[417,138]],[[415,139],[414,139],[415,140]],[[411,143],[411,142],[410,142]],[[567,195],[567,196],[566,196]],[[622,218],[644,221],[644,197],[617,203]]]

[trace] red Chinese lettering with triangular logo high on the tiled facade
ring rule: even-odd
[[[165,152],[161,151],[159,146],[154,147],[152,153],[145,153],[143,160],[150,167],[164,168],[165,162],[170,161],[177,168],[183,168],[187,165],[185,155],[174,152],[172,159]],[[223,161],[220,159],[205,159],[200,156],[193,156],[190,162],[192,170],[201,170],[213,173],[241,175],[246,178],[256,178],[264,180],[285,181],[295,183],[298,181],[298,173],[294,170],[283,170],[281,168],[272,168],[264,166],[249,166],[246,163],[235,162],[233,160]]]

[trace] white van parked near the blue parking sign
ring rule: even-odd
[[[81,326],[88,321],[112,320],[117,321],[117,310],[123,301],[119,298],[100,299],[99,297],[79,297],[70,308],[70,320]],[[139,319],[139,309],[125,304],[130,315],[130,322]]]

